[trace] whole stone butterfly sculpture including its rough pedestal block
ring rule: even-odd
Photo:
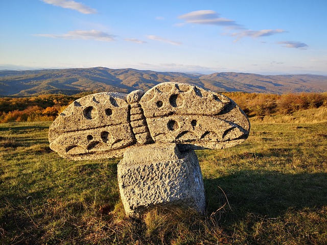
[[[124,156],[118,164],[128,215],[152,206],[203,212],[202,174],[193,150],[243,142],[250,124],[223,94],[183,83],[144,93],[96,93],[76,100],[53,122],[50,148],[72,160]]]

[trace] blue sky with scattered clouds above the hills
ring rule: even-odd
[[[327,75],[327,0],[0,0],[0,69]]]

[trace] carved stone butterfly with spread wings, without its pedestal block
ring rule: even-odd
[[[249,134],[245,113],[228,97],[193,85],[161,83],[144,93],[96,93],[69,105],[49,130],[50,148],[74,160],[123,156],[127,147],[177,143],[221,149]]]

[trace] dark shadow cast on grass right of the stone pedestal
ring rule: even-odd
[[[207,209],[215,212],[228,200],[232,213],[241,218],[246,213],[277,217],[289,208],[319,208],[327,205],[326,180],[326,173],[291,175],[254,170],[204,179]]]

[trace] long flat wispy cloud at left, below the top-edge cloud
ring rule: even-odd
[[[71,31],[66,34],[36,34],[34,36],[41,37],[51,37],[51,38],[64,38],[64,39],[83,39],[83,40],[97,40],[104,42],[112,42],[115,41],[114,35],[110,35],[106,32],[91,30],[91,31]]]

